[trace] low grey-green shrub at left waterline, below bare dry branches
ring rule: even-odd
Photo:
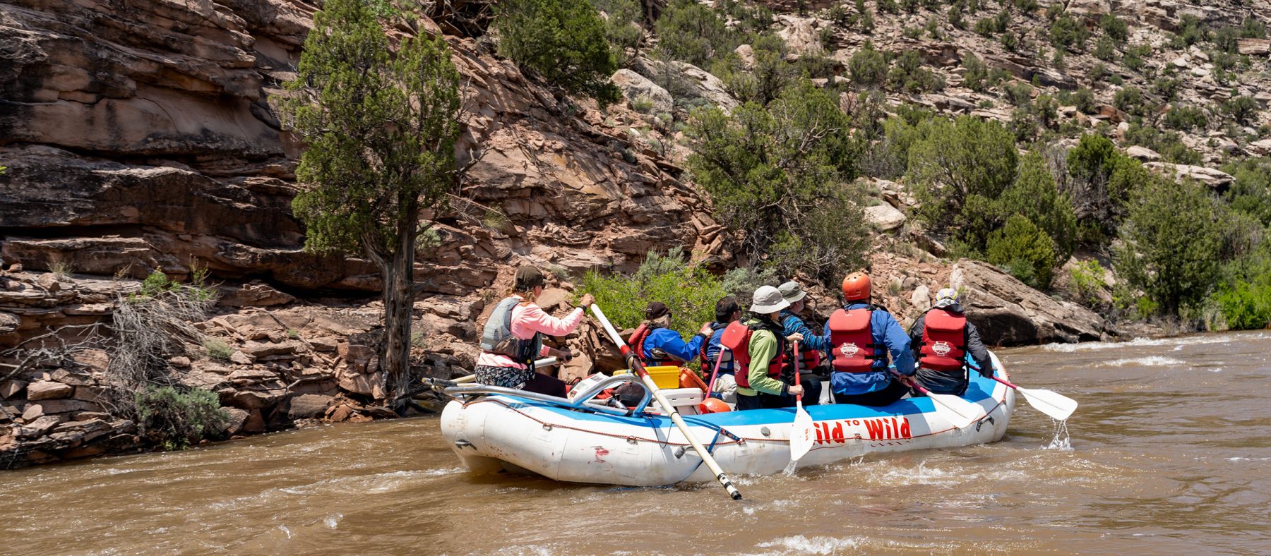
[[[229,420],[220,396],[207,390],[147,386],[135,401],[141,435],[167,449],[183,449],[215,437]]]

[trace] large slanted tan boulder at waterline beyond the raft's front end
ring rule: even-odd
[[[1108,335],[1099,315],[1038,292],[988,263],[958,260],[949,286],[962,292],[967,319],[988,345],[1092,341]]]

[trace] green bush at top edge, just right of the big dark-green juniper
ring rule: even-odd
[[[672,1],[655,24],[657,51],[662,60],[679,60],[698,67],[724,56],[741,44],[716,10],[693,0]]]

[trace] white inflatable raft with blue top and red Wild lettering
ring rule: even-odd
[[[1007,378],[996,355],[993,362],[998,376]],[[799,465],[1000,440],[1014,410],[1014,391],[971,374],[962,397],[982,407],[984,415],[963,429],[944,420],[927,397],[906,397],[885,407],[807,406],[817,439]],[[460,400],[442,411],[441,433],[475,472],[530,471],[558,481],[628,486],[713,480],[669,418],[643,411],[627,415],[591,400],[625,380],[613,377],[573,401],[479,385],[447,388]],[[690,400],[689,405],[695,404]],[[684,420],[730,475],[774,475],[791,461],[793,407],[685,414]]]

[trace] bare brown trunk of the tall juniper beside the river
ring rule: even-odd
[[[418,212],[418,202],[408,202],[400,209],[398,241],[384,272],[384,353],[380,357],[380,368],[384,369],[384,386],[388,388],[389,400],[409,388]]]

